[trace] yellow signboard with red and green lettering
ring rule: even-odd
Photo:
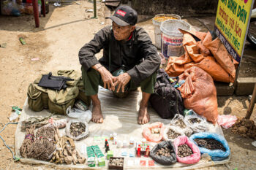
[[[219,0],[214,29],[236,61],[241,61],[254,0]]]

